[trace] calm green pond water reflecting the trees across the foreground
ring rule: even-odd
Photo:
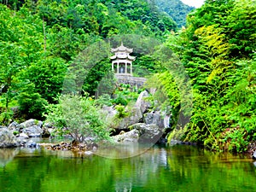
[[[194,146],[107,148],[99,154],[0,149],[0,191],[256,191],[247,156]]]

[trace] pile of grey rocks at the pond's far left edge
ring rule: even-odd
[[[29,140],[31,137],[49,137],[51,128],[43,127],[43,122],[36,119],[29,119],[18,124],[12,122],[8,127],[0,127],[0,148],[14,148],[25,146],[36,148],[37,143]]]

